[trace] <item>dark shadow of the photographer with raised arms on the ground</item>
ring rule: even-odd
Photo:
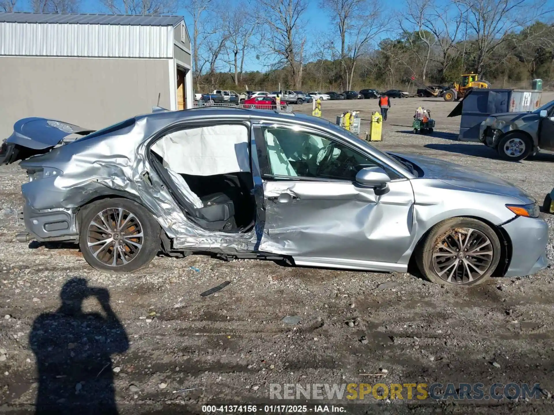
[[[104,314],[84,313],[83,301],[98,299]],[[69,279],[61,306],[35,319],[29,343],[37,359],[37,414],[116,414],[111,355],[129,349],[124,327],[110,307],[106,288]]]

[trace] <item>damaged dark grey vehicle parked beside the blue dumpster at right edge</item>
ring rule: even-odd
[[[554,101],[532,112],[491,114],[481,122],[479,139],[505,160],[554,152]]]

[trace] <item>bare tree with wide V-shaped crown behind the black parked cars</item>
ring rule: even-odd
[[[322,4],[334,21],[340,37],[342,86],[350,90],[356,63],[371,42],[385,29],[378,0],[327,0]]]

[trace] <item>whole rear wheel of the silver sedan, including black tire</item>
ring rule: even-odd
[[[99,271],[134,272],[147,266],[160,251],[160,225],[144,206],[135,201],[122,198],[99,200],[86,206],[81,217],[79,247],[86,262]],[[119,232],[114,232],[117,222],[123,224],[119,226]],[[126,234],[142,236],[125,237]],[[100,248],[96,249],[97,246]],[[114,250],[114,246],[118,249]],[[114,258],[115,266],[112,265]]]

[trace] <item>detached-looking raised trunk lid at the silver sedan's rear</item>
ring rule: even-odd
[[[48,118],[22,118],[14,124],[12,135],[2,143],[0,164],[47,153],[62,141],[71,142],[94,131]]]

